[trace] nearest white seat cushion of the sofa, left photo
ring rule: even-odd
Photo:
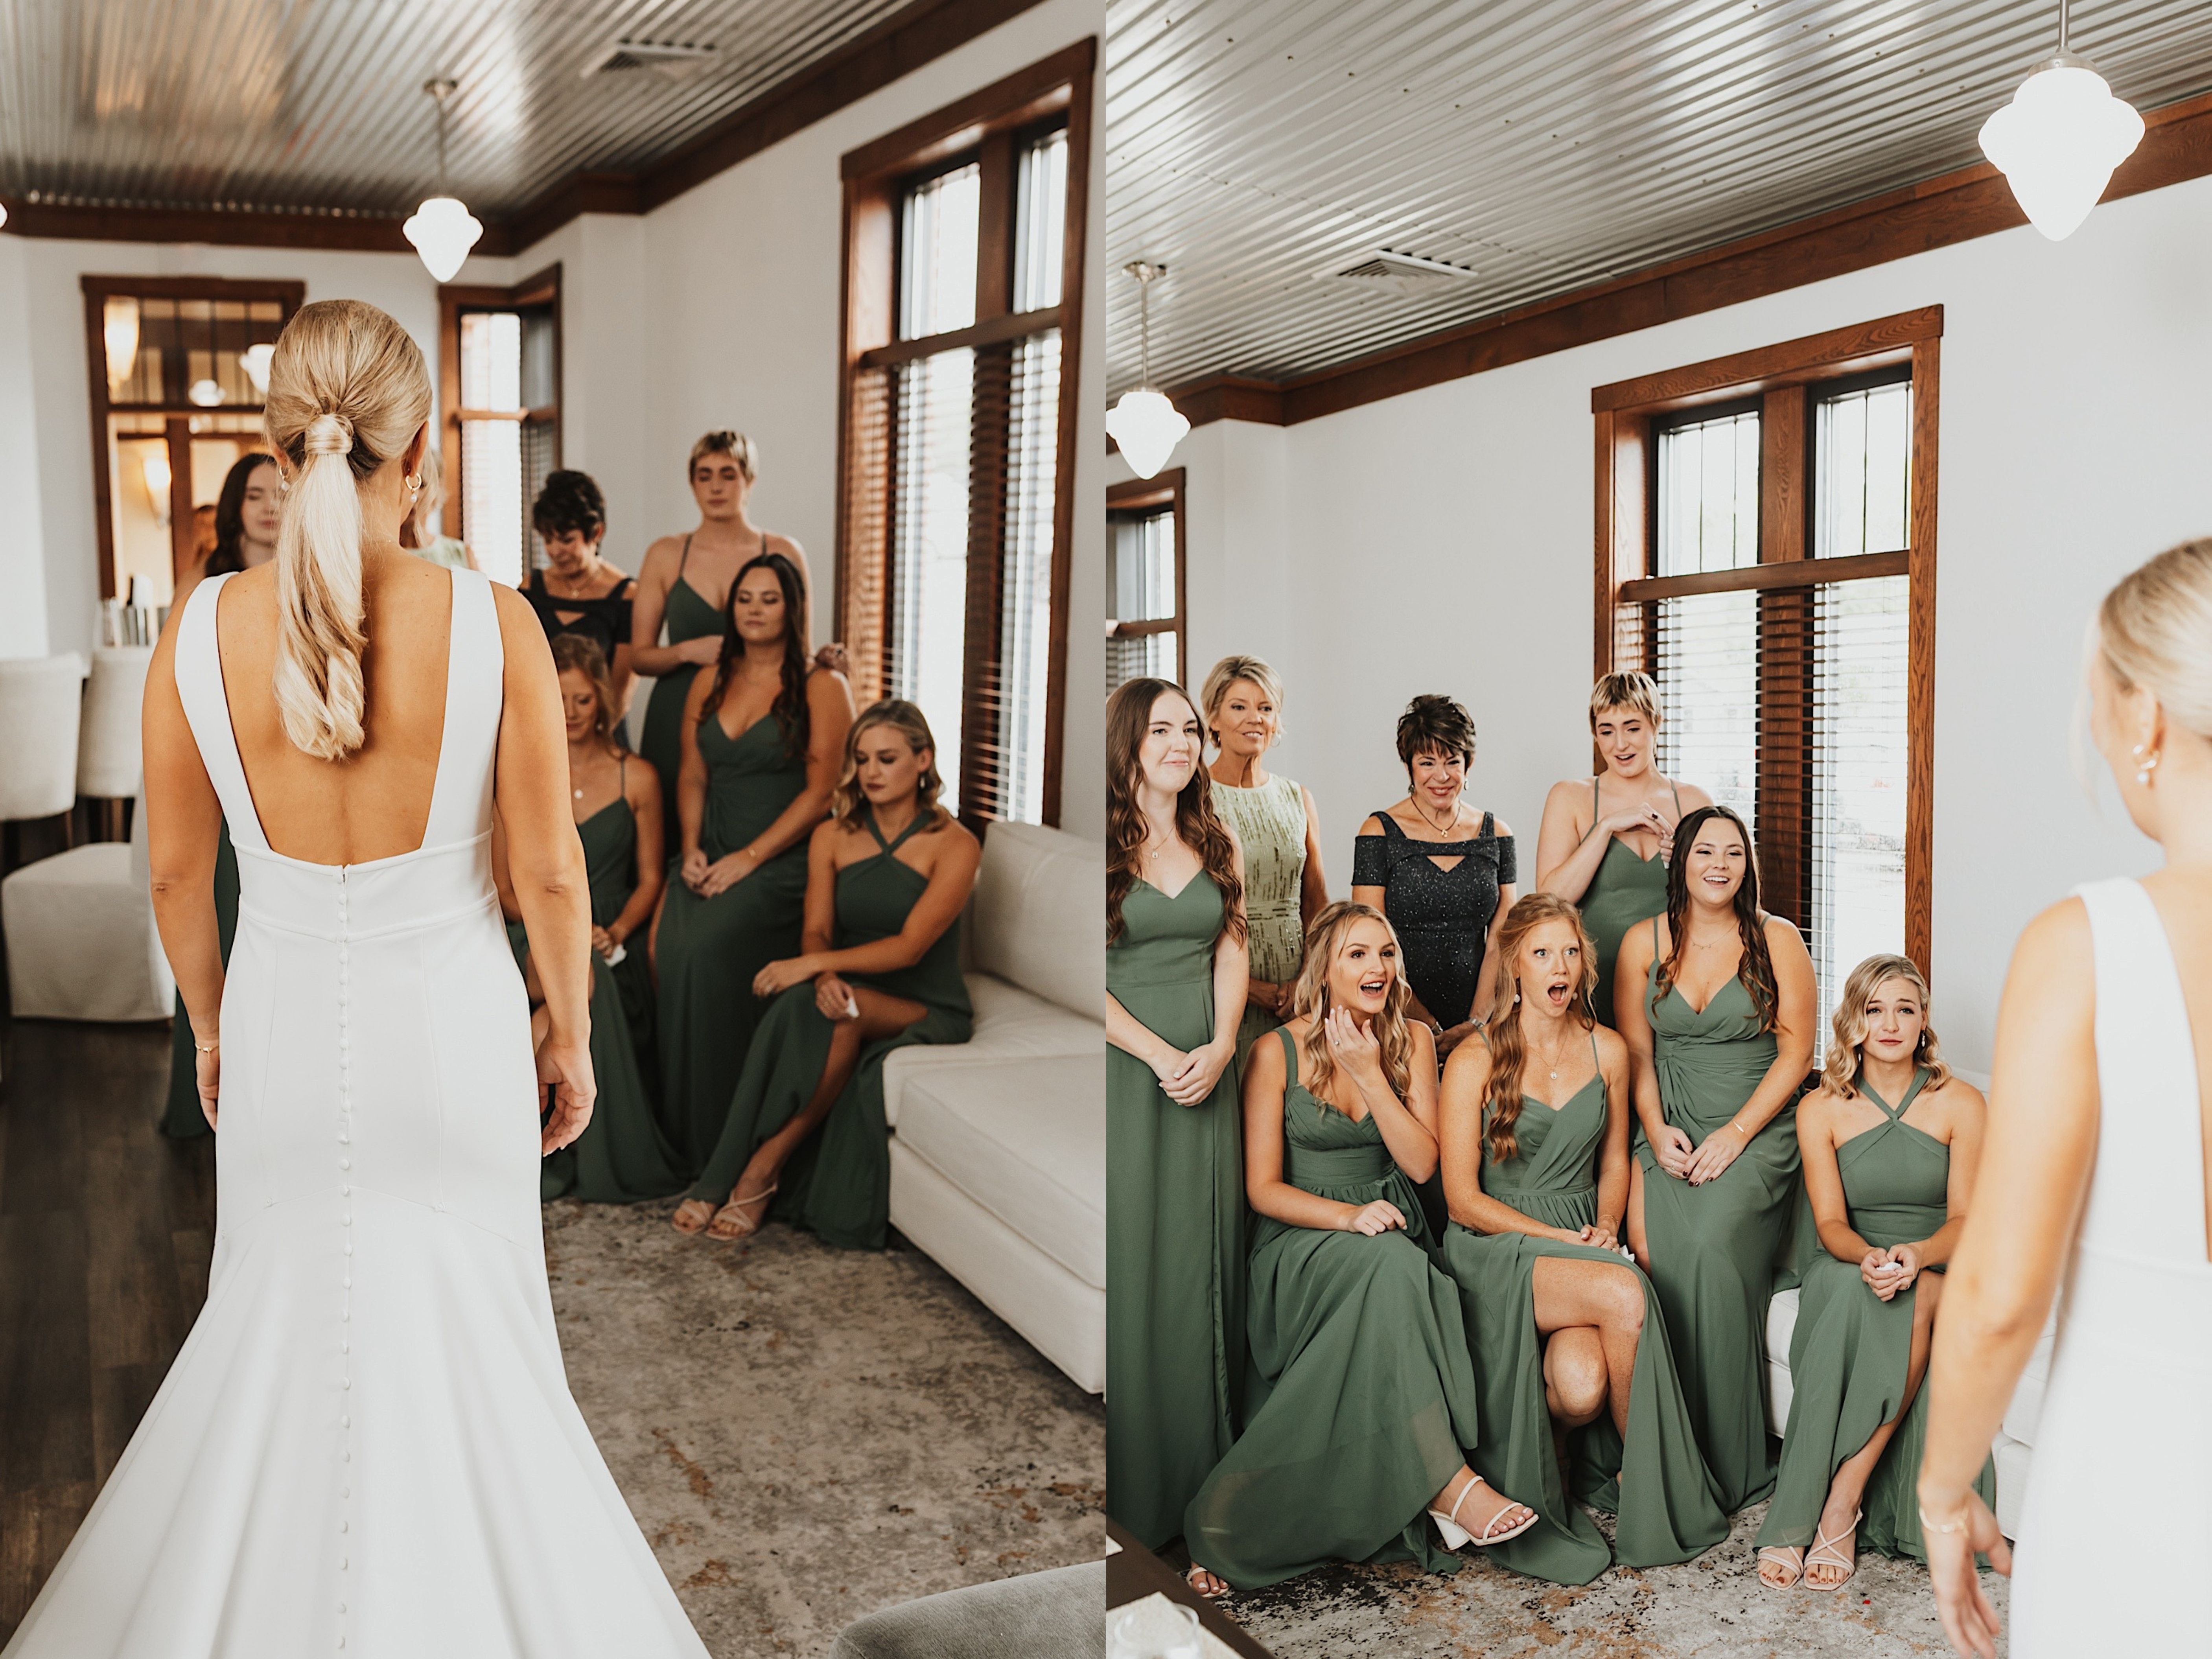
[[[995,834],[995,830],[993,830]],[[1086,1285],[1106,1285],[1106,1051],[931,1066],[898,1141]]]

